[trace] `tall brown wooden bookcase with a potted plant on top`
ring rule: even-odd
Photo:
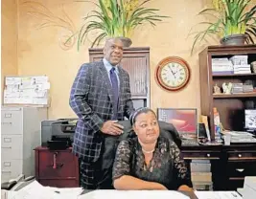
[[[213,58],[230,58],[233,55],[248,55],[248,64],[256,60],[256,45],[209,46],[199,54],[201,114],[209,119],[211,137],[214,139],[213,108],[217,107],[225,129],[244,130],[244,109],[256,108],[256,92],[230,95],[214,95],[213,87],[223,82],[252,82],[256,86],[256,74],[213,75]]]

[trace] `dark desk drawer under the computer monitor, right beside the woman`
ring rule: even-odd
[[[184,160],[220,160],[219,151],[182,151]]]

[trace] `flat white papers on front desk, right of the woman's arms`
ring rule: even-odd
[[[200,191],[196,190],[198,199],[243,199],[236,191]]]

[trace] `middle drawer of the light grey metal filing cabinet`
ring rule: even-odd
[[[2,135],[2,160],[22,159],[22,135]]]

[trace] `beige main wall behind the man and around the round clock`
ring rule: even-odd
[[[158,8],[162,14],[172,17],[158,24],[155,29],[150,25],[143,26],[131,37],[132,46],[151,47],[152,108],[196,107],[200,112],[198,52],[206,46],[206,43],[203,43],[195,55],[191,56],[193,37],[187,36],[191,27],[201,21],[201,18],[196,16],[198,11],[201,11],[209,1],[157,0],[148,4],[149,7]],[[78,30],[82,23],[81,17],[95,7],[74,0],[35,0],[29,3],[18,0],[18,2],[18,74],[50,77],[52,104],[49,118],[74,117],[68,105],[70,87],[81,63],[88,61],[87,49],[90,42],[86,42],[78,52],[76,45],[66,48],[61,41],[69,33]],[[254,2],[256,3],[256,0]],[[208,42],[208,45],[218,44],[216,39],[209,39]],[[154,79],[157,63],[169,55],[183,57],[191,67],[191,80],[180,92],[164,91]]]

